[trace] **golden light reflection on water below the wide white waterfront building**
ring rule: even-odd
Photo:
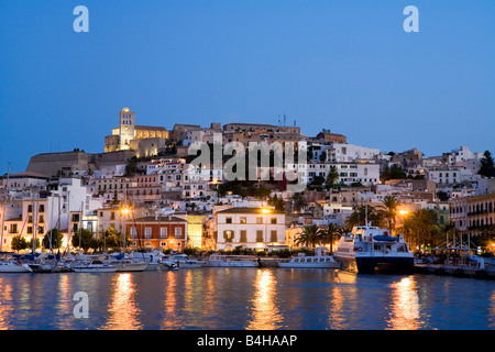
[[[246,329],[274,330],[279,328],[284,318],[275,304],[276,280],[271,270],[257,270],[254,289],[253,315]]]

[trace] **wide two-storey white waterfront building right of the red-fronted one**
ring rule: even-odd
[[[285,213],[267,208],[229,208],[215,213],[217,249],[265,250],[285,245]]]

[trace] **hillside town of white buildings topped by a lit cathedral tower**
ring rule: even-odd
[[[366,220],[402,231],[418,251],[441,249],[449,235],[494,250],[493,243],[476,242],[493,239],[495,229],[495,173],[487,151],[460,146],[426,157],[418,148],[383,152],[351,144],[324,129],[304,135],[295,124],[167,130],[135,124],[129,108],[117,118],[103,153],[38,154],[25,172],[1,177],[1,251],[48,250],[43,238],[56,232],[61,241],[50,245],[62,251],[117,249],[125,233],[129,246],[141,251],[271,253],[310,243],[304,238],[308,226],[345,231]],[[289,166],[305,190],[290,191],[292,182],[276,177],[272,154],[268,166],[256,164],[254,179],[226,179],[226,155],[209,167],[194,164],[191,145],[213,150],[219,141],[246,150],[250,143],[304,145],[306,160],[296,157]]]

